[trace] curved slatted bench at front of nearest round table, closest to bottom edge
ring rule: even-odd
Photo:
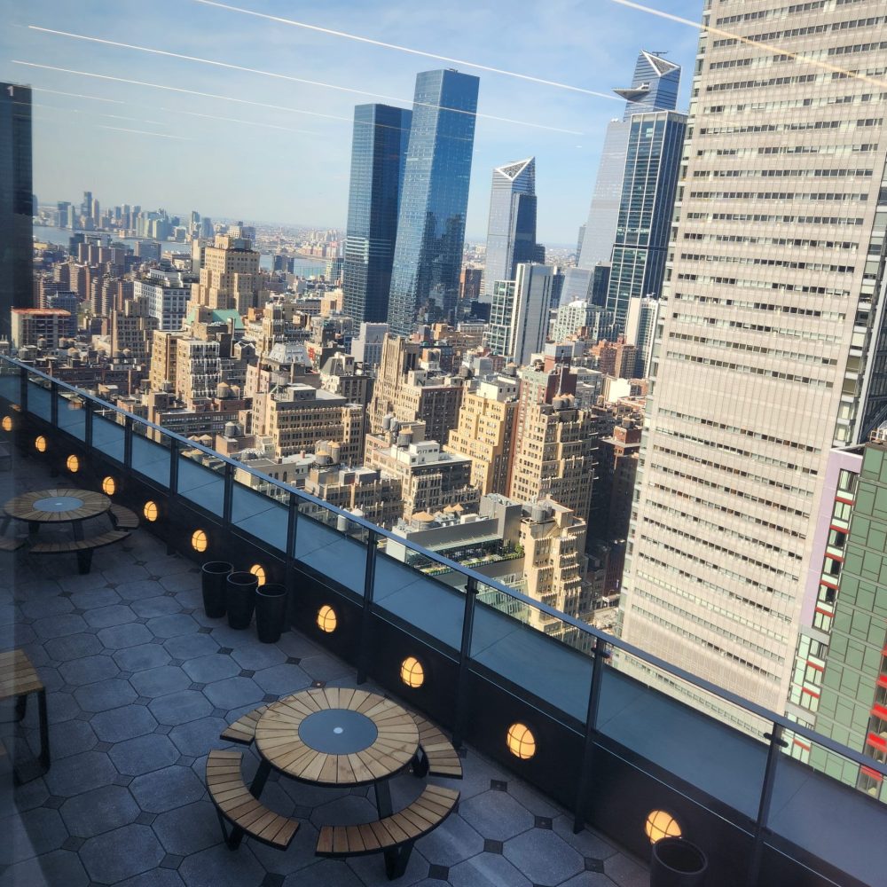
[[[342,859],[384,853],[385,873],[393,881],[406,871],[412,845],[434,831],[458,801],[458,791],[427,785],[411,805],[383,820],[359,826],[321,826],[317,855]]]

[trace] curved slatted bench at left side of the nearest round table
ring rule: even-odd
[[[207,788],[216,805],[225,844],[229,850],[237,850],[243,836],[248,835],[262,844],[286,850],[299,823],[269,810],[253,797],[240,773],[242,760],[239,751],[213,750],[207,758]],[[225,820],[232,824],[230,834],[225,831]]]

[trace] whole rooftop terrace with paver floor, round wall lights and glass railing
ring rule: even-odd
[[[46,687],[52,756],[30,769],[39,707],[17,726],[4,703],[4,883],[388,883],[378,855],[314,853],[319,825],[375,818],[366,789],[272,774],[263,804],[301,823],[289,849],[223,844],[209,750],[229,747],[219,735],[242,715],[311,687],[387,694],[461,750],[464,779],[431,779],[460,792],[458,808],[398,883],[646,887],[651,816],[706,852],[711,885],[883,883],[887,808],[783,755],[781,734],[887,766],[396,538],[464,577],[444,584],[390,558],[386,530],[280,484],[281,500],[263,496],[235,480],[248,467],[216,456],[212,470],[193,458],[210,453],[200,444],[9,358],[0,429],[3,502],[101,491],[141,518],[85,575],[73,554],[0,552],[0,651],[24,650]],[[83,520],[86,538],[103,519]],[[211,560],[285,584],[291,630],[266,644],[206,616]],[[677,684],[696,708],[670,695]],[[248,781],[258,758],[238,748]],[[422,784],[397,776],[394,809]]]

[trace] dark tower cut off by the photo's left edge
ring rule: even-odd
[[[31,90],[0,83],[0,338],[13,308],[34,305],[31,255]]]

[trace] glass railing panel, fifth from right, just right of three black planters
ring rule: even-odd
[[[323,576],[363,597],[366,545],[353,521],[314,502],[299,505],[295,557]]]

